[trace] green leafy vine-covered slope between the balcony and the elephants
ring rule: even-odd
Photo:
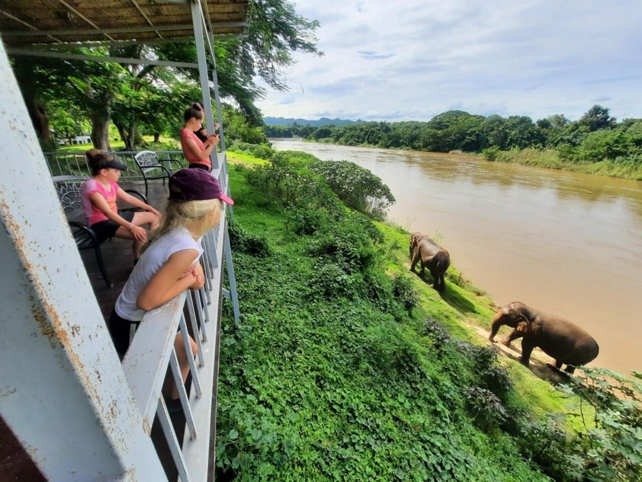
[[[579,418],[548,416],[571,399],[469,328],[492,300],[454,268],[440,296],[403,229],[312,209],[292,186],[314,177],[280,175],[290,206],[230,168],[241,319],[223,317],[218,479],[571,480]]]

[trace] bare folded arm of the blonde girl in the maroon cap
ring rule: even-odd
[[[197,276],[190,270],[198,257],[195,249],[184,249],[169,256],[136,299],[136,306],[149,311],[196,284]]]

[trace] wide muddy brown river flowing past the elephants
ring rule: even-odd
[[[496,303],[564,316],[600,344],[594,366],[642,370],[641,181],[457,154],[271,141],[277,150],[368,168],[397,199],[388,218],[437,234]]]

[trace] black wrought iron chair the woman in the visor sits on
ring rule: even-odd
[[[83,183],[87,181],[87,177],[83,175],[57,175],[51,178],[54,186],[56,187],[56,192],[58,193],[58,199],[60,199],[60,204],[65,211],[65,216],[67,217],[67,222],[69,222],[69,228],[71,229],[71,234],[74,237],[76,242],[76,247],[80,251],[83,249],[93,249],[96,253],[96,261],[98,262],[98,267],[100,272],[103,275],[107,287],[111,288],[114,286],[114,283],[109,280],[107,276],[107,269],[105,269],[105,263],[103,262],[103,254],[100,251],[100,242],[98,242],[98,237],[96,233],[85,224],[84,214],[82,211],[82,195],[80,189],[82,188]],[[148,204],[147,198],[141,193],[134,190],[125,190],[132,195],[140,197],[143,202]],[[139,208],[129,208],[123,211],[140,211]]]

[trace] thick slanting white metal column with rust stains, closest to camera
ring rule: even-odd
[[[165,480],[0,43],[0,415],[49,480]]]

